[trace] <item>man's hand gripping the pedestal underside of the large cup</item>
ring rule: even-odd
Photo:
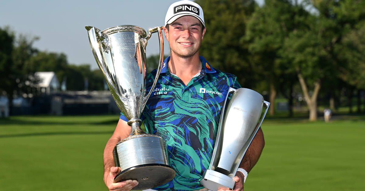
[[[123,182],[114,183],[114,177],[118,175],[119,171],[119,167],[111,167],[110,172],[104,175],[105,185],[107,185],[110,191],[130,191],[133,187],[137,186],[137,180],[125,180]]]

